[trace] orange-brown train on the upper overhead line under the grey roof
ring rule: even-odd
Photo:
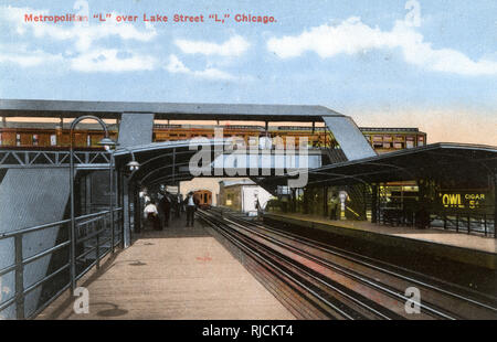
[[[0,128],[0,147],[30,149],[63,149],[70,147],[70,130],[61,129],[53,124],[9,122],[11,127]],[[27,125],[31,125],[27,127]],[[98,141],[104,133],[102,129],[89,129],[86,125],[74,130],[73,141],[77,149],[101,148]],[[262,126],[250,125],[154,125],[152,141],[177,141],[203,137],[214,138],[214,129],[223,129],[223,138],[241,138],[245,146],[261,146],[261,139],[271,139],[272,146],[283,143],[300,146],[302,139],[307,140],[308,147],[335,149],[338,143],[326,127],[310,126],[269,126],[267,130]],[[371,147],[379,153],[399,149],[409,149],[426,145],[426,133],[417,128],[381,128],[361,127],[360,130]],[[116,127],[110,128],[110,138],[117,139]],[[265,146],[267,141],[265,141]]]

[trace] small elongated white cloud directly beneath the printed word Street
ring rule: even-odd
[[[189,40],[175,40],[175,44],[183,53],[199,53],[204,55],[220,55],[225,57],[240,56],[250,47],[250,43],[240,35],[232,36],[222,44]]]

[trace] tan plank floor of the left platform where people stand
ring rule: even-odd
[[[129,248],[82,278],[89,313],[76,314],[66,291],[36,319],[294,319],[200,223],[184,227],[183,221],[137,234]]]

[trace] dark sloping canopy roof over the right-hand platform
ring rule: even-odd
[[[345,161],[308,171],[308,185],[348,185],[420,179],[488,182],[497,174],[497,147],[433,143],[372,158]],[[269,188],[286,185],[290,174],[260,180]]]

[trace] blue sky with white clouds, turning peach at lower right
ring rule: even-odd
[[[88,22],[25,22],[65,13]],[[496,14],[495,0],[0,0],[0,98],[322,105],[497,146]]]

